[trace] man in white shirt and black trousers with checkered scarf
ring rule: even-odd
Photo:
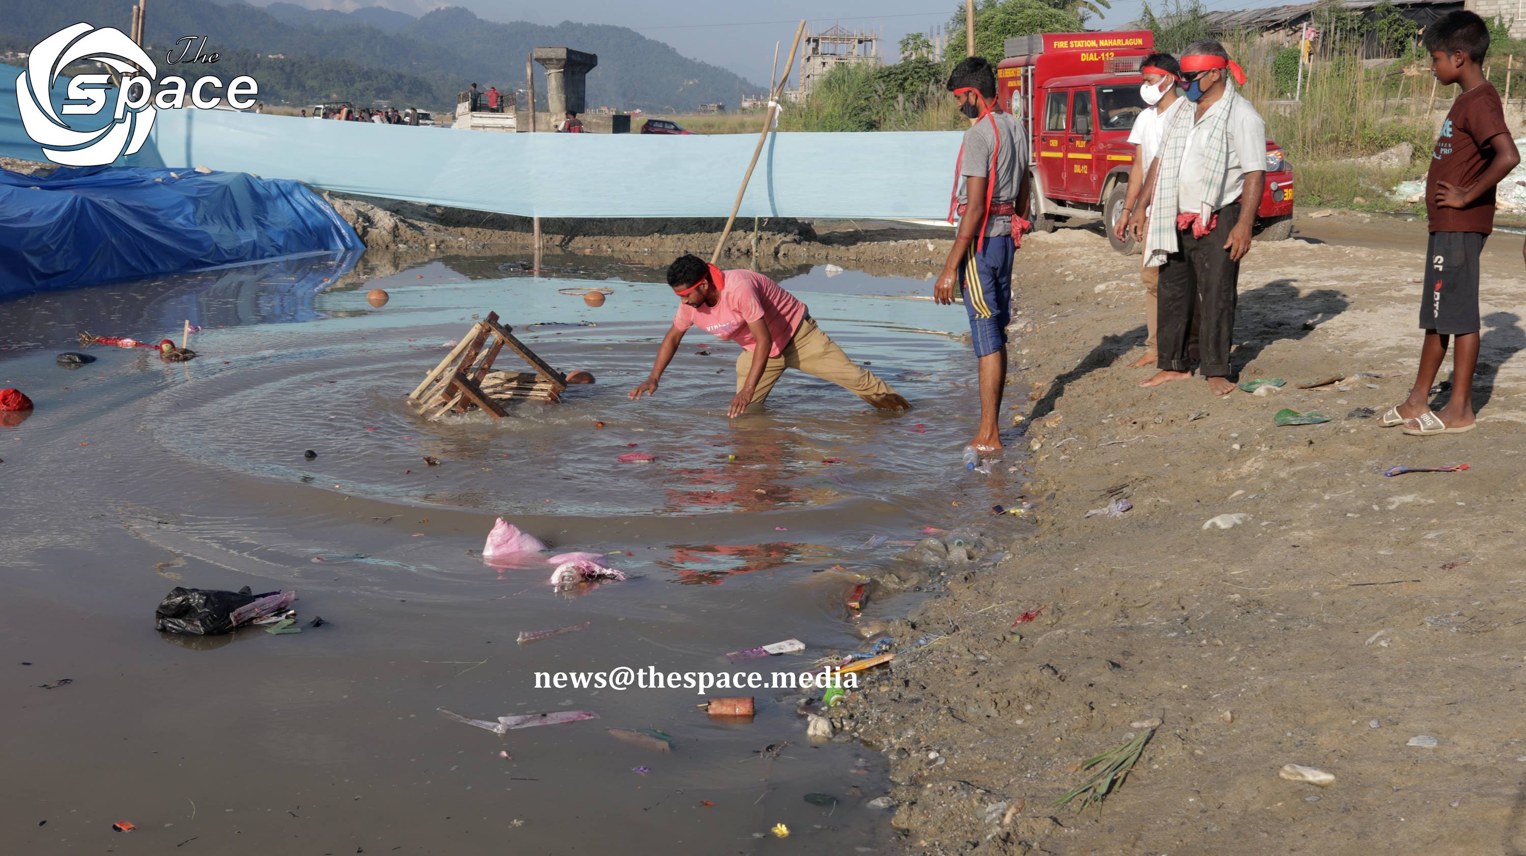
[[[1267,179],[1267,124],[1230,84],[1233,75],[1244,85],[1245,73],[1222,44],[1195,41],[1180,66],[1192,105],[1172,119],[1146,179],[1143,204],[1155,200],[1157,209],[1149,230],[1143,211],[1129,220],[1144,240],[1144,264],[1160,267],[1160,371],[1140,386],[1192,377],[1190,330],[1201,314],[1199,369],[1213,395],[1228,395],[1239,262]]]

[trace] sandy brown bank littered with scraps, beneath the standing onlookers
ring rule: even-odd
[[[1270,398],[1137,388],[1146,372],[1123,368],[1143,339],[1137,258],[1080,230],[1021,250],[1009,403],[1032,424],[1013,446],[1032,449],[1038,533],[893,627],[957,633],[839,714],[890,758],[911,851],[1526,847],[1518,238],[1485,253],[1479,430],[1421,439],[1364,407],[1381,414],[1413,377],[1424,221],[1300,226],[1257,244],[1241,278],[1235,363],[1286,378]],[[1355,372],[1383,377],[1294,389]],[[1334,420],[1276,427],[1282,407]],[[1473,468],[1383,475],[1460,462]],[[1109,496],[1132,510],[1083,517]],[[1204,531],[1218,514],[1247,517]],[[1079,761],[1149,717],[1164,725],[1100,813],[1050,806],[1085,778]],[[1282,781],[1288,763],[1335,783]]]

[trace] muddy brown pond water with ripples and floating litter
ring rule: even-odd
[[[29,783],[0,818],[24,830],[26,851],[894,847],[887,815],[865,806],[885,792],[877,755],[810,745],[778,700],[789,691],[734,693],[755,696],[758,716],[719,723],[693,690],[537,690],[534,673],[768,681],[852,650],[856,623],[905,612],[902,597],[853,616],[844,595],[905,562],[923,526],[1015,491],[1007,465],[990,478],[958,465],[977,414],[963,311],[900,299],[928,293],[922,281],[781,275],[917,409],[882,415],[789,372],[763,412],[729,421],[736,349],[699,331],[656,398],[626,400],[674,305],[653,270],[580,258],[563,259],[566,276],[531,278],[514,261],[447,259],[328,290],[349,261],[314,258],[0,305],[0,386],[37,401],[0,429],[0,745],[9,778]],[[613,288],[603,307],[557,293],[589,284]],[[385,308],[366,304],[371,287],[391,293]],[[598,383],[508,420],[420,420],[403,397],[490,310]],[[204,328],[191,363],[98,346],[82,369],[53,365],[79,330],[157,340],[185,317]],[[617,462],[624,452],[656,461]],[[632,578],[557,594],[549,566],[485,566],[476,552],[496,516],[607,554]],[[990,526],[998,539],[1009,520]],[[302,623],[328,624],[160,636],[153,607],[174,584],[291,587]],[[807,652],[720,656],[787,638]],[[40,687],[61,677],[73,684]],[[438,706],[600,719],[499,737]],[[658,728],[674,749],[606,728]],[[777,760],[757,758],[784,742]],[[812,806],[810,792],[839,803]],[[114,821],[139,830],[113,833]],[[787,845],[757,838],[778,822]]]

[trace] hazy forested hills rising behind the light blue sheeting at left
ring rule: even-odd
[[[311,12],[281,3],[272,14],[244,3],[156,0],[150,5],[146,40],[157,61],[180,37],[208,35],[208,50],[224,55],[218,76],[253,73],[261,82],[261,98],[273,104],[337,98],[357,104],[383,99],[453,108],[455,93],[470,82],[482,88],[522,87],[523,56],[537,46],[566,46],[598,55],[598,69],[588,79],[591,107],[693,110],[708,101],[739,104],[743,92],[758,88],[626,27],[491,23],[461,8],[436,9],[409,21],[385,12]],[[385,27],[397,29],[385,32],[369,23],[377,17]],[[127,31],[130,20],[131,0],[9,0],[6,14],[0,15],[0,44],[35,44],[76,21]],[[273,60],[279,66],[267,63],[272,53],[284,56]],[[223,64],[233,63],[235,55],[240,67]],[[545,92],[539,66],[536,72],[536,87]],[[267,82],[261,73],[272,79]],[[429,101],[418,101],[426,98]]]

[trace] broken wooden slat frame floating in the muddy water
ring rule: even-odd
[[[514,339],[510,330],[513,328],[497,322],[497,313],[488,313],[473,323],[446,359],[409,394],[407,403],[430,420],[452,410],[465,414],[473,406],[501,420],[508,415],[504,404],[511,401],[555,401],[568,388],[566,375]],[[534,371],[493,371],[493,360],[505,345]]]

